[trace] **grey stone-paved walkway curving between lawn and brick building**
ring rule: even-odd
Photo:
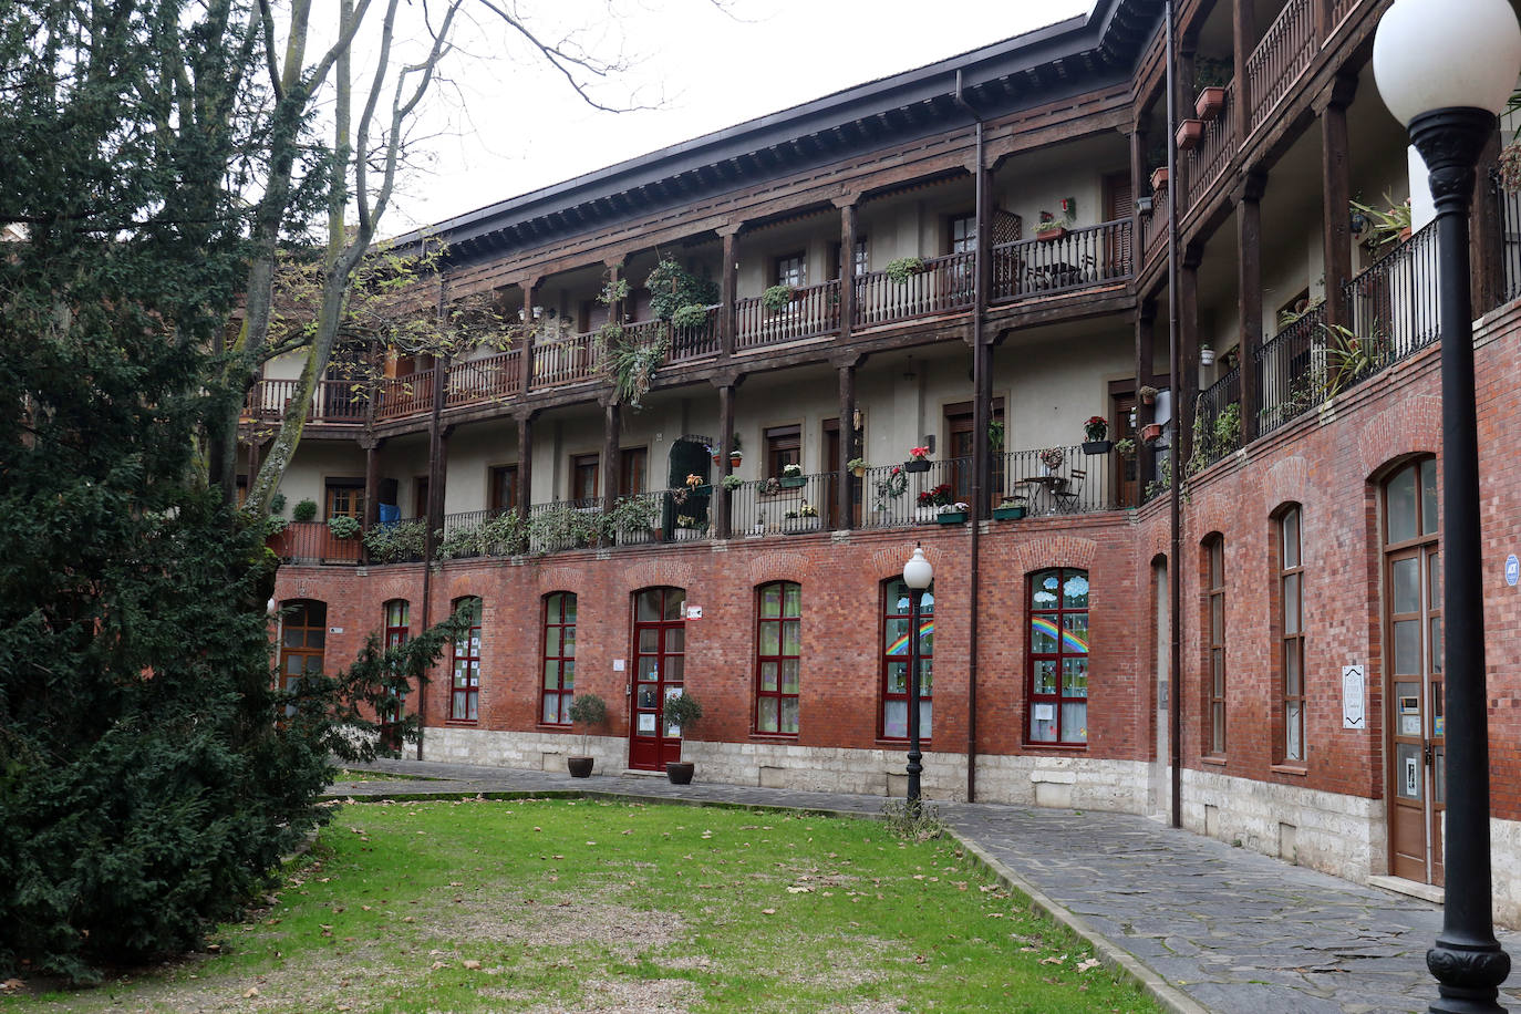
[[[475,792],[596,792],[697,803],[878,815],[884,800],[834,792],[694,783],[665,777],[510,771],[377,762],[437,781],[336,783],[338,797]],[[1174,1011],[1200,1014],[1386,1014],[1425,1011],[1436,984],[1425,950],[1434,905],[1364,888],[1142,816],[990,803],[937,804],[957,835],[1147,982]],[[1503,933],[1512,958],[1521,935]],[[1521,962],[1518,962],[1521,964]],[[1521,1011],[1521,976],[1501,1003]]]

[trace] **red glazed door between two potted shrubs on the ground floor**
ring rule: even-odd
[[[634,593],[634,677],[628,722],[628,766],[662,771],[681,760],[681,730],[665,728],[665,699],[686,681],[686,591]]]

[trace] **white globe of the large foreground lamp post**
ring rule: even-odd
[[[1521,26],[1507,0],[1396,0],[1373,36],[1384,105],[1410,126],[1433,109],[1500,114],[1521,70]]]

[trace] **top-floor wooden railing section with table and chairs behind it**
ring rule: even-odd
[[[1071,230],[1059,239],[1027,239],[993,248],[993,299],[1091,289],[1135,272],[1130,219]]]

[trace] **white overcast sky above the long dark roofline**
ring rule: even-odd
[[[496,0],[510,3],[511,0]],[[423,123],[420,169],[382,234],[472,211],[710,131],[1086,14],[1092,0],[525,0],[525,17],[587,26],[587,49],[637,59],[599,87],[660,108],[599,112],[541,58],[476,17]],[[608,18],[608,9],[618,18]]]

